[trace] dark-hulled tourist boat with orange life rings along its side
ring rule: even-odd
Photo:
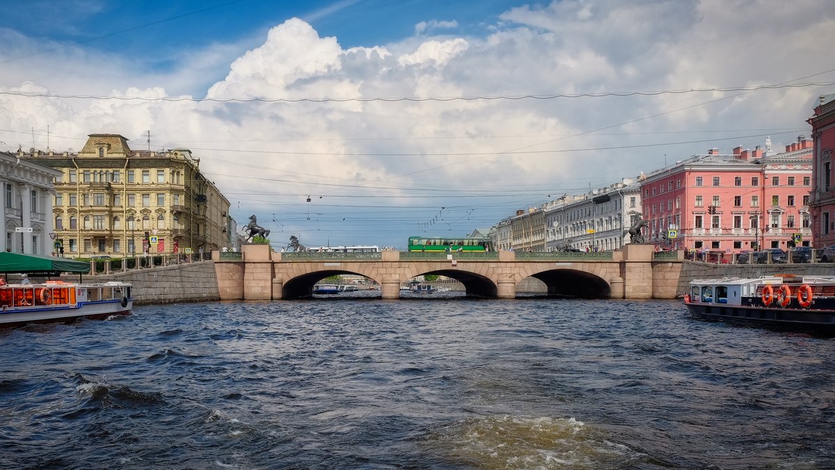
[[[684,303],[694,318],[835,335],[835,277],[697,279]]]

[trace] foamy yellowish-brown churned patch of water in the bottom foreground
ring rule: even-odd
[[[468,418],[429,442],[454,462],[488,468],[620,467],[643,455],[573,417]]]

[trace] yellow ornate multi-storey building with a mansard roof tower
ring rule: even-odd
[[[132,150],[119,134],[89,134],[78,154],[18,156],[63,171],[53,205],[58,254],[197,253],[230,243],[229,200],[188,149]]]

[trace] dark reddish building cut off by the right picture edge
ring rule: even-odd
[[[812,174],[812,232],[815,248],[835,245],[835,94],[822,96],[809,118],[814,139],[814,170]]]

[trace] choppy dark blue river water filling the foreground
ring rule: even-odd
[[[362,295],[0,331],[0,467],[835,467],[835,340]]]

